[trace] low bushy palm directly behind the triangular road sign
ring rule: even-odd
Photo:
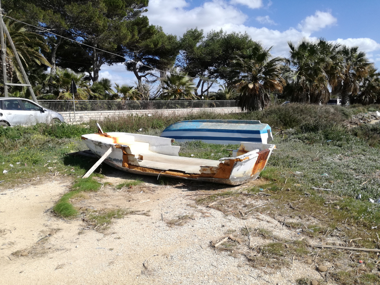
[[[77,86],[77,93],[74,94],[75,100],[87,100],[92,95],[90,81],[84,79],[84,73],[75,73],[70,68],[57,67],[52,74],[53,93],[58,100],[72,100],[73,94],[70,93],[71,81]]]

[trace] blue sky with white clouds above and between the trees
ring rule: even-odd
[[[380,67],[378,0],[149,0],[146,15],[166,33],[181,36],[187,28],[247,32],[272,54],[287,56],[287,41],[319,37],[359,46]],[[124,65],[103,66],[100,77],[133,84]]]

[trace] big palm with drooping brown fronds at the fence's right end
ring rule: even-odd
[[[282,92],[285,80],[281,77],[283,59],[272,58],[271,48],[258,42],[234,56],[228,85],[236,87],[242,110],[262,110],[270,103],[269,90]]]

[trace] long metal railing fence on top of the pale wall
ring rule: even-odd
[[[73,101],[38,100],[46,109],[55,112],[74,111]],[[186,108],[223,108],[236,107],[234,100],[199,100],[199,101],[75,101],[75,111],[127,111],[127,110],[159,110]]]

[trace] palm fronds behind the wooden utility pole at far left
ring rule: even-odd
[[[21,62],[24,63],[25,67],[28,68],[33,63],[50,66],[50,63],[40,53],[40,50],[48,51],[48,47],[43,36],[28,31],[26,29],[26,24],[9,18],[4,18],[4,24],[8,28],[14,46],[16,47],[17,54],[19,55]],[[6,40],[6,69],[8,81],[12,82],[13,74],[15,73],[17,79],[24,82],[21,70],[17,65],[14,52],[9,44],[9,40]],[[0,74],[2,75],[1,69]]]

